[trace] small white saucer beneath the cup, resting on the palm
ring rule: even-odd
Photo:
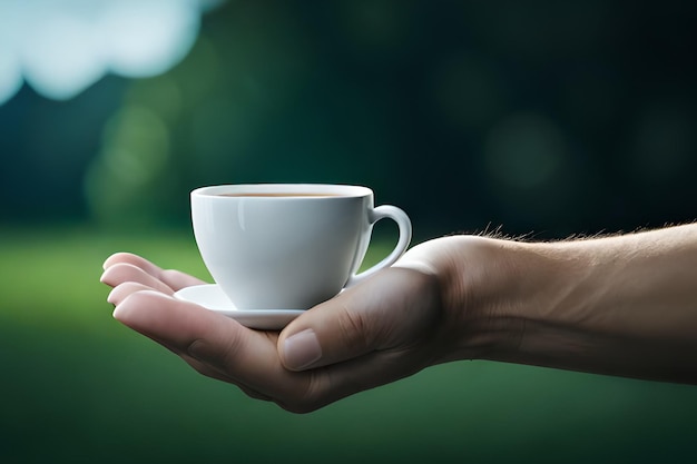
[[[181,288],[175,297],[196,303],[207,309],[224,314],[244,326],[262,330],[281,330],[303,313],[302,309],[237,309],[215,284]]]

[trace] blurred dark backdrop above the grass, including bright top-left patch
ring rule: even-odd
[[[258,181],[371,186],[419,238],[694,220],[696,10],[2,0],[0,224],[185,226]]]

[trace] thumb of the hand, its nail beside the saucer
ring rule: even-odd
[[[430,324],[424,282],[404,268],[389,268],[293,320],[278,338],[291,371],[326,366],[413,340]]]

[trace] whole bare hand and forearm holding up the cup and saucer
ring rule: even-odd
[[[126,253],[104,267],[116,319],[296,413],[458,359],[697,384],[697,225],[557,243],[436,238],[279,333],[175,299],[203,284],[178,270]]]

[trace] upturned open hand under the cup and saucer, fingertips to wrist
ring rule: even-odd
[[[281,333],[246,328],[178,300],[202,280],[130,254],[105,263],[114,317],[199,373],[252,397],[310,412],[444,361],[449,337],[439,277],[418,251],[293,320]],[[413,256],[414,259],[410,259]]]

